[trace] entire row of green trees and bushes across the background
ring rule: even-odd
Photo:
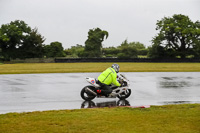
[[[200,22],[188,16],[173,15],[156,23],[158,34],[148,48],[140,42],[123,41],[117,47],[103,47],[108,31],[90,29],[85,45],[65,49],[61,42],[44,44],[45,38],[24,21],[16,20],[0,27],[0,59],[49,57],[117,57],[117,58],[199,58]]]

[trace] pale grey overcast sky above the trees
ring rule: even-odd
[[[103,47],[128,42],[151,45],[157,20],[183,14],[200,21],[200,0],[0,0],[0,25],[15,20],[38,28],[45,44],[85,45],[89,29],[109,33]]]

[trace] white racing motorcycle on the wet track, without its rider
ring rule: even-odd
[[[103,96],[101,94],[96,93],[97,89],[101,89],[101,86],[98,84],[98,80],[95,78],[86,77],[86,81],[91,85],[85,86],[81,90],[81,97],[86,101],[93,100],[95,97],[97,98],[116,98],[118,97],[120,100],[124,100],[131,95],[131,89],[129,88],[129,80],[125,77],[125,75],[120,74],[118,76],[119,83],[122,84],[121,87],[112,85],[112,93],[109,96]]]

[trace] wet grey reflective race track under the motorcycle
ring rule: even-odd
[[[200,72],[124,73],[130,80],[126,100],[81,99],[85,77],[100,73],[0,75],[0,114],[90,107],[200,103]]]

